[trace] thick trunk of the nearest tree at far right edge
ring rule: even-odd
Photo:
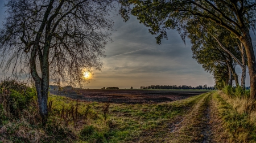
[[[253,44],[251,42],[251,37],[249,30],[243,29],[243,37],[241,38],[241,42],[245,47],[245,52],[248,60],[248,70],[250,76],[250,101],[254,101],[256,94],[256,63],[255,63],[255,55],[253,51]]]

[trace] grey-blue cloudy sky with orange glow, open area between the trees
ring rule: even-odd
[[[0,23],[5,11],[0,0]],[[214,86],[213,76],[204,71],[192,58],[189,39],[186,44],[176,30],[168,31],[168,40],[156,44],[155,35],[134,16],[124,22],[114,18],[113,42],[106,45],[106,57],[101,71],[93,70],[92,81],[84,88],[139,88],[149,85],[205,85]],[[254,37],[255,41],[255,37]],[[255,42],[254,42],[255,43]],[[238,69],[238,74],[241,71]],[[246,86],[249,86],[247,75]]]

